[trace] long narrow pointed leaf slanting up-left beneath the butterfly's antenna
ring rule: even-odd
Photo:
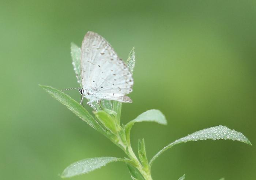
[[[42,85],[39,85],[39,86],[41,86],[47,93],[52,95],[53,98],[57,99],[63,105],[67,106],[69,110],[71,110],[74,114],[76,114],[76,116],[80,117],[83,121],[87,122],[87,124],[89,124],[91,127],[105,134],[105,132],[103,131],[101,126],[98,124],[98,122],[94,119],[94,117],[91,116],[91,114],[74,99],[72,99],[67,94],[53,87],[42,86]]]

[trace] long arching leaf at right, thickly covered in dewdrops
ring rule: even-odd
[[[199,130],[195,133],[192,133],[188,136],[182,137],[169,145],[165,146],[162,150],[160,150],[155,156],[150,160],[150,167],[154,160],[163,152],[165,152],[167,149],[170,149],[172,146],[176,144],[180,144],[181,142],[188,142],[188,141],[197,141],[197,140],[219,140],[219,139],[225,139],[225,140],[233,140],[233,141],[240,141],[244,142],[246,144],[252,145],[251,142],[240,132],[237,132],[235,130],[231,130],[227,128],[226,126],[215,126],[203,130]]]

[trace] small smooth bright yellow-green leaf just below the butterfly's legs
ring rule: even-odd
[[[94,111],[96,118],[113,134],[117,134],[116,122],[110,114],[106,113],[106,111],[99,110]]]

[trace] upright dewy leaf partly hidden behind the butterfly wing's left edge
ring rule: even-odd
[[[74,66],[74,70],[76,73],[76,78],[78,83],[82,87],[82,78],[81,78],[81,71],[80,71],[80,63],[81,63],[81,48],[76,46],[76,44],[71,43],[71,58],[72,64]]]

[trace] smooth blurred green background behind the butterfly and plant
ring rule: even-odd
[[[196,130],[225,125],[254,146],[197,141],[168,150],[153,165],[155,180],[256,179],[256,1],[0,1],[0,179],[60,180],[69,164],[125,154],[38,84],[78,87],[70,43],[87,31],[127,59],[135,46],[132,104],[126,123],[148,109],[167,126],[136,124],[151,158]],[[67,92],[80,99],[78,91]],[[72,180],[129,180],[123,163]]]

